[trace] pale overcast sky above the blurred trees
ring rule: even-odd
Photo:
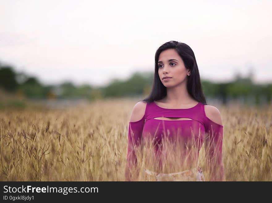
[[[44,84],[103,85],[154,71],[167,41],[188,44],[200,77],[254,70],[272,82],[272,1],[0,1],[0,62]]]

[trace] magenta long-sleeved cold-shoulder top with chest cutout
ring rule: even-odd
[[[199,150],[205,143],[206,163],[211,174],[210,181],[223,181],[223,125],[210,120],[205,114],[204,106],[205,104],[199,102],[192,108],[169,109],[159,107],[155,102],[147,103],[142,119],[129,122],[126,180],[132,180],[130,169],[137,164],[135,149],[141,145],[142,140],[144,141],[146,138],[150,140],[151,138],[154,141],[155,154],[159,154],[158,149],[161,149],[162,138],[167,137],[168,141],[174,143],[177,140],[182,140],[184,148],[175,152],[180,153],[181,157],[185,156],[189,143],[197,143],[195,145],[196,150],[190,152],[190,159],[187,158],[186,163],[195,163],[194,161],[198,159]],[[192,120],[155,119],[157,117],[189,118]],[[161,161],[159,161],[160,166],[161,164]]]

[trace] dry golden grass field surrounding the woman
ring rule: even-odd
[[[1,110],[0,180],[124,181],[136,103],[106,99],[64,109]],[[217,108],[226,181],[272,181],[272,106]],[[199,163],[206,175],[204,146]]]

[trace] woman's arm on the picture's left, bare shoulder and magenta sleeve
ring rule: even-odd
[[[135,180],[138,177],[137,170],[137,149],[141,145],[142,130],[144,126],[144,113],[146,103],[138,102],[135,104],[129,122],[128,130],[128,150],[125,168],[125,179],[127,181]]]

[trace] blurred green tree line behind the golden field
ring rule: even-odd
[[[13,67],[0,63],[0,88],[23,98],[85,98],[93,100],[148,95],[151,91],[153,77],[154,73],[134,73],[125,81],[115,79],[105,87],[75,86],[72,82],[45,86],[37,78],[29,77],[24,73],[16,73]],[[272,84],[254,84],[250,76],[241,78],[237,75],[232,82],[225,83],[213,83],[207,80],[201,82],[205,96],[221,99],[224,104],[229,98],[240,98],[244,103],[253,99],[255,104],[259,104],[261,98],[265,98],[267,103],[271,103]]]

